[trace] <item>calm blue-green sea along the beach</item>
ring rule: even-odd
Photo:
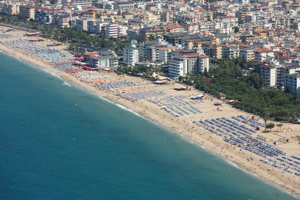
[[[0,199],[296,199],[171,130],[0,53]]]

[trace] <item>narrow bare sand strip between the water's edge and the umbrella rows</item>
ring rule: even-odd
[[[85,91],[90,92],[91,94],[97,95],[100,98],[104,98],[107,101],[116,104],[116,105],[121,105],[123,107],[125,107],[128,111],[131,111],[135,114],[137,114],[140,117],[143,117],[146,120],[149,120],[150,122],[152,121],[153,123],[155,123],[156,125],[158,125],[159,127],[162,127],[164,129],[170,130],[171,133],[173,134],[181,134],[182,136],[184,135],[184,139],[186,140],[187,138],[190,138],[190,140],[192,141],[192,143],[194,143],[195,145],[204,148],[205,150],[209,150],[209,152],[213,152],[215,155],[217,155],[218,157],[230,162],[232,165],[235,165],[236,167],[238,167],[240,170],[244,170],[245,172],[248,172],[252,175],[254,175],[255,177],[259,177],[261,178],[261,180],[263,180],[264,182],[271,184],[273,186],[275,186],[276,188],[280,189],[281,191],[284,192],[288,192],[289,194],[295,196],[295,197],[300,197],[300,190],[299,189],[289,189],[288,191],[286,190],[286,188],[292,188],[291,184],[284,184],[283,180],[279,180],[276,177],[271,177],[273,179],[273,181],[270,181],[268,176],[269,174],[267,173],[267,171],[264,171],[262,169],[259,168],[255,168],[257,166],[255,166],[253,163],[249,163],[247,162],[245,159],[243,159],[242,157],[238,156],[238,153],[234,153],[233,150],[232,151],[227,151],[226,154],[230,155],[230,157],[232,156],[232,158],[229,158],[229,156],[225,157],[225,154],[223,154],[224,150],[221,148],[217,148],[217,147],[221,147],[221,145],[216,145],[217,143],[222,143],[222,144],[226,144],[221,137],[218,137],[216,135],[213,135],[213,139],[210,139],[210,141],[208,141],[208,139],[205,142],[200,142],[201,140],[205,139],[205,137],[207,137],[209,135],[205,134],[205,136],[199,136],[196,139],[193,139],[190,132],[185,132],[185,128],[183,128],[185,126],[185,124],[180,124],[180,126],[176,123],[176,121],[161,121],[161,117],[159,117],[158,115],[155,114],[155,111],[152,110],[148,110],[147,112],[148,114],[146,114],[146,112],[141,111],[140,109],[135,108],[135,106],[133,107],[133,103],[128,101],[128,100],[124,100],[122,98],[117,98],[116,96],[112,95],[112,94],[107,94],[103,91],[97,90],[95,87],[93,87],[90,84],[87,84],[85,82],[81,82],[79,81],[75,76],[72,76],[71,74],[68,74],[64,71],[60,71],[57,70],[55,68],[53,68],[50,65],[47,65],[45,63],[43,63],[42,59],[37,58],[37,60],[34,60],[33,58],[30,58],[29,56],[26,56],[24,54],[19,53],[22,56],[18,56],[16,54],[13,54],[15,52],[18,52],[17,50],[13,51],[13,49],[8,48],[7,46],[4,46],[2,43],[0,43],[0,50],[5,53],[8,56],[13,56],[14,58],[19,59],[20,61],[24,62],[25,64],[28,64],[29,66],[33,66],[34,68],[38,68],[41,70],[44,70],[44,72],[48,73],[53,73],[55,76],[59,76],[59,78],[65,82],[70,81],[71,86],[74,85],[74,87],[77,87],[79,89],[83,89]],[[34,61],[36,61],[36,63],[34,63]],[[136,104],[135,104],[136,105]],[[130,107],[131,106],[131,107]],[[120,107],[120,106],[119,106]],[[121,107],[122,108],[122,107]],[[234,108],[235,109],[235,108]],[[176,123],[176,124],[175,124]],[[180,121],[179,121],[180,123]],[[180,129],[176,129],[174,128],[174,125],[178,125],[178,127],[180,126]],[[203,130],[206,131],[206,130]],[[187,137],[186,137],[187,136]],[[194,135],[193,135],[194,136]],[[185,138],[186,137],[186,138]],[[212,138],[212,137],[211,137]],[[212,141],[211,141],[212,140]],[[222,152],[222,155],[219,155],[218,152]],[[214,156],[215,156],[214,155]],[[233,158],[234,157],[234,158]],[[257,156],[258,157],[258,156]],[[257,157],[255,157],[255,159],[257,159]],[[257,159],[258,160],[258,159]],[[263,163],[260,163],[260,165],[265,165]],[[235,167],[234,166],[234,167]],[[266,165],[267,166],[267,165]],[[251,169],[250,169],[251,168]],[[257,171],[257,172],[256,172]],[[276,169],[274,171],[277,171],[278,173],[281,173],[281,170]],[[260,174],[260,175],[259,175]],[[296,195],[295,195],[296,194]]]

